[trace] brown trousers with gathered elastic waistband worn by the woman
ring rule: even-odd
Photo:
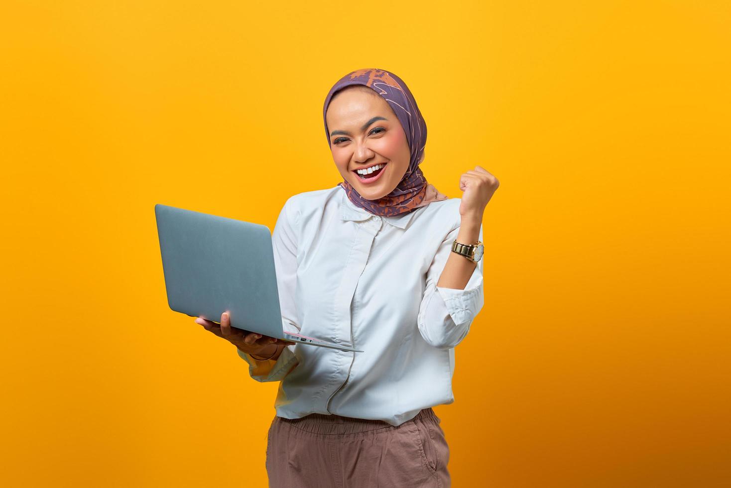
[[[275,416],[269,428],[270,488],[447,488],[450,450],[431,408],[393,426],[311,413]]]

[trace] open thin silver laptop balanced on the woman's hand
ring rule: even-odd
[[[357,351],[284,330],[271,233],[267,226],[155,205],[167,291],[176,312],[308,346]]]

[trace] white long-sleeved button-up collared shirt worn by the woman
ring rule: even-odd
[[[353,205],[339,185],[287,199],[272,235],[284,329],[364,352],[295,344],[258,361],[237,349],[252,378],[281,380],[277,416],[398,425],[454,402],[454,347],[484,302],[482,260],[465,289],[436,286],[460,202],[384,217]]]

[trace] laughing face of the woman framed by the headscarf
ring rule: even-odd
[[[409,141],[390,105],[375,92],[345,88],[330,101],[325,121],[333,161],[344,180],[368,200],[390,194],[411,159]],[[357,172],[368,168],[370,174]]]

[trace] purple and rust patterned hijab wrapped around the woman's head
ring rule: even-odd
[[[338,183],[345,189],[345,192],[353,204],[363,208],[377,216],[398,216],[401,213],[410,212],[417,207],[423,207],[431,202],[447,199],[447,196],[439,193],[431,183],[426,182],[419,164],[424,159],[424,148],[426,145],[426,123],[421,116],[416,100],[411,91],[401,78],[385,69],[358,69],[342,77],[330,88],[325,98],[325,107],[322,109],[322,118],[325,120],[325,136],[327,144],[332,148],[330,142],[330,131],[327,129],[327,107],[333,99],[336,91],[349,85],[366,85],[382,96],[398,117],[401,127],[406,133],[406,140],[409,141],[411,159],[409,168],[404,173],[404,178],[385,197],[368,200],[360,196],[350,183],[346,180]]]

